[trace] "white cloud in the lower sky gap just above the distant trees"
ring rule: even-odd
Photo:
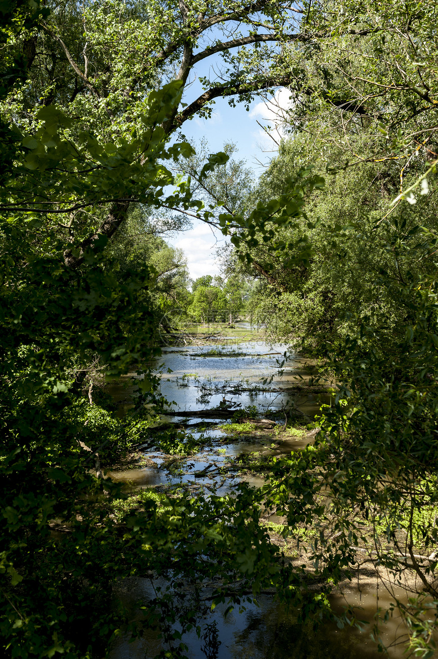
[[[216,259],[219,241],[224,241],[221,233],[216,236],[208,224],[199,222],[193,229],[180,234],[176,240],[172,241],[172,244],[183,250],[187,257],[190,276],[192,279],[197,279],[203,275],[220,274]]]

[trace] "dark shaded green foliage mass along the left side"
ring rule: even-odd
[[[181,541],[192,533],[192,503],[183,523],[185,503],[171,503],[157,524],[162,510],[147,498],[141,513],[116,505],[114,517],[118,486],[94,475],[93,451],[108,464],[145,436],[149,422],[122,423],[83,399],[90,364],[101,360],[116,377],[158,354],[151,291],[158,268],[121,260],[108,248],[111,232],[94,227],[105,225],[107,212],[119,223],[116,195],[152,207],[191,203],[163,165],[191,148],[166,146],[158,125],[180,93],[179,83],[152,92],[139,125],[115,142],[45,105],[20,129],[14,175],[1,190],[0,634],[7,656],[103,656],[123,619],[118,604],[108,606],[117,581],[149,569],[164,575],[163,552],[178,544],[181,557],[190,557]],[[167,185],[170,196],[162,192]],[[147,368],[138,385],[136,413],[149,403],[153,414],[160,401]],[[187,438],[176,439],[187,451]],[[168,438],[169,450],[180,444]],[[213,519],[222,503],[216,507]],[[217,535],[216,523],[205,529],[204,514],[201,506],[201,554]],[[236,558],[242,552],[235,545]]]

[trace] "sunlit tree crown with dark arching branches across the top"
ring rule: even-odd
[[[118,146],[120,140],[130,139],[132,130],[142,130],[141,115],[147,110],[151,90],[172,80],[180,82],[181,90],[188,89],[197,63],[214,57],[224,61],[222,79],[203,78],[203,94],[185,107],[174,105],[162,124],[164,134],[171,134],[195,115],[208,116],[218,97],[249,103],[259,92],[289,85],[291,91],[313,98],[316,90],[308,81],[303,83],[305,58],[314,40],[331,39],[333,30],[316,20],[316,10],[309,11],[272,0],[211,7],[122,0],[79,7],[64,1],[54,5],[32,32],[18,36],[16,45],[26,43],[28,48],[28,84],[11,91],[3,106],[4,116],[32,133],[38,107],[57,103],[67,117],[87,118],[77,126],[78,132],[85,127],[99,140]],[[352,38],[368,32],[353,30]],[[349,36],[348,28],[345,34]],[[344,107],[331,92],[322,90],[321,94],[330,105]],[[70,127],[70,137],[76,140],[73,133]],[[223,158],[220,161],[224,163]],[[201,179],[208,171],[201,171]],[[85,213],[76,213],[70,226],[76,246],[92,241],[94,235],[112,237],[130,205],[141,201],[135,190],[122,198],[114,189],[110,199],[109,204],[105,196],[100,204],[98,225]],[[26,200],[26,208],[35,212],[34,200]],[[180,210],[187,212],[183,206]],[[212,219],[197,215],[204,221]],[[95,214],[93,217],[96,219]]]

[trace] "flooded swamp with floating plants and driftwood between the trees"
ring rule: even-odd
[[[314,442],[320,409],[330,405],[333,383],[314,384],[314,360],[287,355],[287,346],[264,340],[262,329],[247,322],[237,322],[235,328],[245,329],[245,341],[227,331],[222,337],[207,334],[210,338],[203,344],[195,334],[196,345],[163,349],[160,391],[172,400],[172,414],[164,412],[157,425],[151,426],[149,445],[142,445],[107,472],[130,494],[128,500],[120,500],[120,511],[126,512],[127,506],[135,509],[141,501],[160,494],[178,496],[182,490],[208,497],[222,496],[242,482],[258,488],[268,480],[274,457],[301,451]],[[128,376],[107,390],[118,401],[120,413],[129,414],[134,403],[126,401],[134,395],[135,379]],[[264,508],[260,523],[281,556],[292,565],[304,561],[311,571],[312,530],[285,535],[286,517]],[[276,600],[274,588],[264,590],[256,600],[245,602],[243,596],[238,612],[226,612],[224,604],[211,610],[214,583],[196,587],[180,583],[178,590],[171,579],[131,579],[120,596],[135,616],[139,601],[153,600],[157,587],[169,587],[176,602],[194,597],[193,590],[198,588],[200,599],[195,606],[202,611],[201,633],[193,629],[184,637],[190,659],[353,659],[358,653],[374,659],[381,656],[372,640],[376,629],[389,656],[397,659],[404,655],[401,639],[407,630],[397,614],[384,619],[380,607],[390,606],[394,591],[407,602],[418,589],[418,580],[412,571],[398,581],[385,569],[379,571],[365,546],[362,552],[353,581],[345,578],[329,595],[334,612],[341,615],[345,607],[355,608],[361,623],[353,629],[339,621],[324,622],[316,630],[309,623],[299,623],[293,608]],[[179,628],[177,623],[172,631]],[[110,657],[153,659],[160,650],[157,631],[134,642],[123,635]]]

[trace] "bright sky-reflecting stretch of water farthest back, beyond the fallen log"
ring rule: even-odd
[[[320,403],[328,403],[330,396],[324,393],[294,395],[298,385],[308,382],[313,368],[309,360],[294,357],[286,362],[283,373],[278,374],[285,351],[286,345],[265,341],[166,347],[159,360],[163,371],[161,392],[169,401],[174,401],[171,409],[180,411],[210,410],[217,407],[225,395],[227,401],[239,403],[241,407],[256,405],[262,413],[280,410],[292,400],[298,411],[312,418],[320,409]],[[185,375],[190,377],[184,378]],[[264,383],[270,378],[272,382]],[[133,380],[135,374],[128,374],[109,387],[116,402],[129,405],[128,399],[135,388]],[[203,393],[204,399],[201,398]]]

